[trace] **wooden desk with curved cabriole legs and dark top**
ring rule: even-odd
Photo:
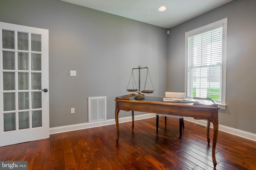
[[[118,113],[120,110],[132,111],[132,130],[134,129],[134,111],[147,113],[162,113],[168,115],[178,115],[185,117],[193,117],[194,119],[206,119],[207,122],[207,141],[210,145],[210,122],[213,124],[213,141],[212,141],[212,162],[214,167],[217,165],[215,158],[215,149],[218,138],[218,105],[209,106],[209,101],[198,100],[199,104],[181,103],[181,102],[164,102],[163,97],[145,96],[143,100],[135,100],[136,94],[128,94],[116,97],[116,142],[119,139],[119,123]],[[206,104],[206,105],[200,105]]]

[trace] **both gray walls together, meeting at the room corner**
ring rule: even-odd
[[[150,68],[152,95],[184,91],[185,32],[228,18],[228,106],[219,123],[256,133],[255,9],[255,0],[234,0],[173,27],[169,36],[164,28],[59,0],[0,0],[0,21],[49,29],[50,127],[58,127],[88,122],[88,97],[107,96],[107,118],[114,119],[114,98],[129,94],[138,65]]]

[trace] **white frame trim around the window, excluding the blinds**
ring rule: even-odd
[[[193,29],[185,33],[185,92],[188,94],[188,37],[210,31],[217,27],[223,26],[222,30],[222,86],[221,102],[217,102],[221,109],[226,109],[226,49],[227,49],[227,22],[228,19],[210,23],[208,25]]]

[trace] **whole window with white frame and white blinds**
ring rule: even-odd
[[[222,109],[226,106],[226,30],[227,18],[185,33],[187,97],[210,97]]]

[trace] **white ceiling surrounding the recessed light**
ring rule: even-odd
[[[204,14],[232,0],[62,0],[164,28]],[[158,7],[166,6],[164,12]]]

